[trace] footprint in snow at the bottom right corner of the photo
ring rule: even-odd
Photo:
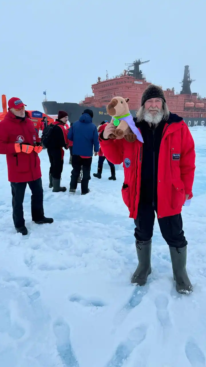
[[[195,341],[188,341],[185,345],[185,354],[192,367],[205,367],[205,355]]]

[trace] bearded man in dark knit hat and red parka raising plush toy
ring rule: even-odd
[[[113,140],[110,123],[99,137],[108,160],[124,166],[122,197],[135,219],[136,251],[139,264],[131,282],[144,286],[151,273],[151,243],[155,212],[163,238],[169,245],[176,290],[192,292],[186,271],[187,241],[181,210],[192,197],[195,147],[189,128],[170,113],[163,90],[151,84],[141,97],[136,127],[144,143],[136,139]]]

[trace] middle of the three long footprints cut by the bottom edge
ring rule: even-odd
[[[107,367],[122,367],[136,346],[141,344],[146,338],[146,333],[147,328],[145,325],[132,329],[128,338],[118,345],[113,357],[108,362]]]

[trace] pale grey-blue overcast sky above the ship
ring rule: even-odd
[[[206,96],[206,1],[1,1],[0,95],[19,97],[29,110],[47,99],[79,102],[98,76],[142,65],[147,80],[180,91],[184,65]],[[1,111],[1,108],[0,108]]]

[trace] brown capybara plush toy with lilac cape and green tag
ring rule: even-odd
[[[129,112],[129,98],[114,97],[107,106],[108,115],[112,116],[111,124],[114,125],[114,133],[110,139],[125,138],[129,142],[136,139],[143,142],[140,131],[135,126],[132,115]]]

